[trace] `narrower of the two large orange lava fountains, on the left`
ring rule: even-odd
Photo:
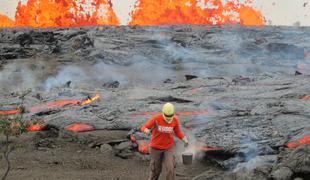
[[[110,0],[28,0],[19,2],[15,26],[118,25]]]

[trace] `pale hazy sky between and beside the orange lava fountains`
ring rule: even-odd
[[[126,24],[129,19],[128,13],[136,0],[111,1],[121,23]],[[17,2],[18,0],[0,0],[0,13],[14,19]],[[302,26],[310,26],[310,0],[253,0],[253,3],[254,7],[263,13],[267,24],[293,25],[300,22]]]

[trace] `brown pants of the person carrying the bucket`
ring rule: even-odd
[[[166,168],[166,180],[175,180],[175,157],[174,157],[174,149],[171,147],[170,149],[155,149],[150,148],[150,176],[149,180],[157,180],[162,170],[162,166]]]

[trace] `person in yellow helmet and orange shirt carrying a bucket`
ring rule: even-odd
[[[175,157],[174,157],[174,134],[188,146],[188,140],[180,127],[180,122],[174,114],[174,106],[166,103],[162,113],[154,115],[142,127],[141,131],[150,134],[153,129],[150,143],[150,176],[149,180],[157,180],[162,170],[162,165],[166,168],[166,179],[174,180]]]

